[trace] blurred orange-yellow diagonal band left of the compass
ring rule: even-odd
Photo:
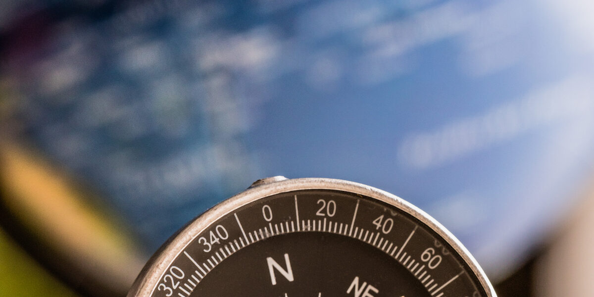
[[[89,203],[90,194],[21,146],[0,146],[7,207],[64,258],[94,280],[125,292],[144,257],[113,216]]]

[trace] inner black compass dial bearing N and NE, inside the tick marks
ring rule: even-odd
[[[276,285],[268,263],[273,265]],[[367,296],[431,296],[420,280],[405,267],[394,265],[385,252],[333,233],[273,236],[219,265],[191,296],[208,296],[209,292],[220,296],[333,297],[364,296],[365,292]],[[238,270],[244,276],[237,277]],[[395,279],[399,280],[396,286]]]

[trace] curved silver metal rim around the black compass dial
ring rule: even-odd
[[[433,219],[429,214],[426,214],[421,209],[413,206],[407,201],[396,195],[390,194],[377,188],[369,187],[368,185],[358,184],[356,182],[343,181],[341,179],[329,178],[297,178],[285,179],[281,181],[271,182],[269,184],[261,184],[255,187],[250,187],[247,190],[217,204],[210,210],[195,218],[191,223],[182,228],[179,233],[172,236],[166,244],[163,245],[159,251],[149,260],[146,266],[132,285],[128,293],[128,297],[132,296],[150,296],[157,282],[165,273],[165,269],[178,257],[194,238],[207,229],[212,223],[216,222],[226,214],[232,213],[238,208],[245,206],[260,198],[269,197],[271,195],[280,194],[283,192],[305,190],[305,189],[329,189],[337,191],[352,192],[354,194],[364,195],[390,204],[399,208],[405,213],[410,214],[429,229],[433,230],[441,236],[454,250],[462,257],[463,261],[475,273],[482,287],[488,297],[496,297],[495,290],[489,283],[482,268],[476,262],[475,258],[470,255],[470,252],[444,228],[437,220]]]

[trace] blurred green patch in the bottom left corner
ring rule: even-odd
[[[78,296],[0,228],[0,296]]]

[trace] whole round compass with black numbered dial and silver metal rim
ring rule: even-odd
[[[426,214],[328,179],[248,189],[207,211],[147,265],[129,296],[495,296]]]

